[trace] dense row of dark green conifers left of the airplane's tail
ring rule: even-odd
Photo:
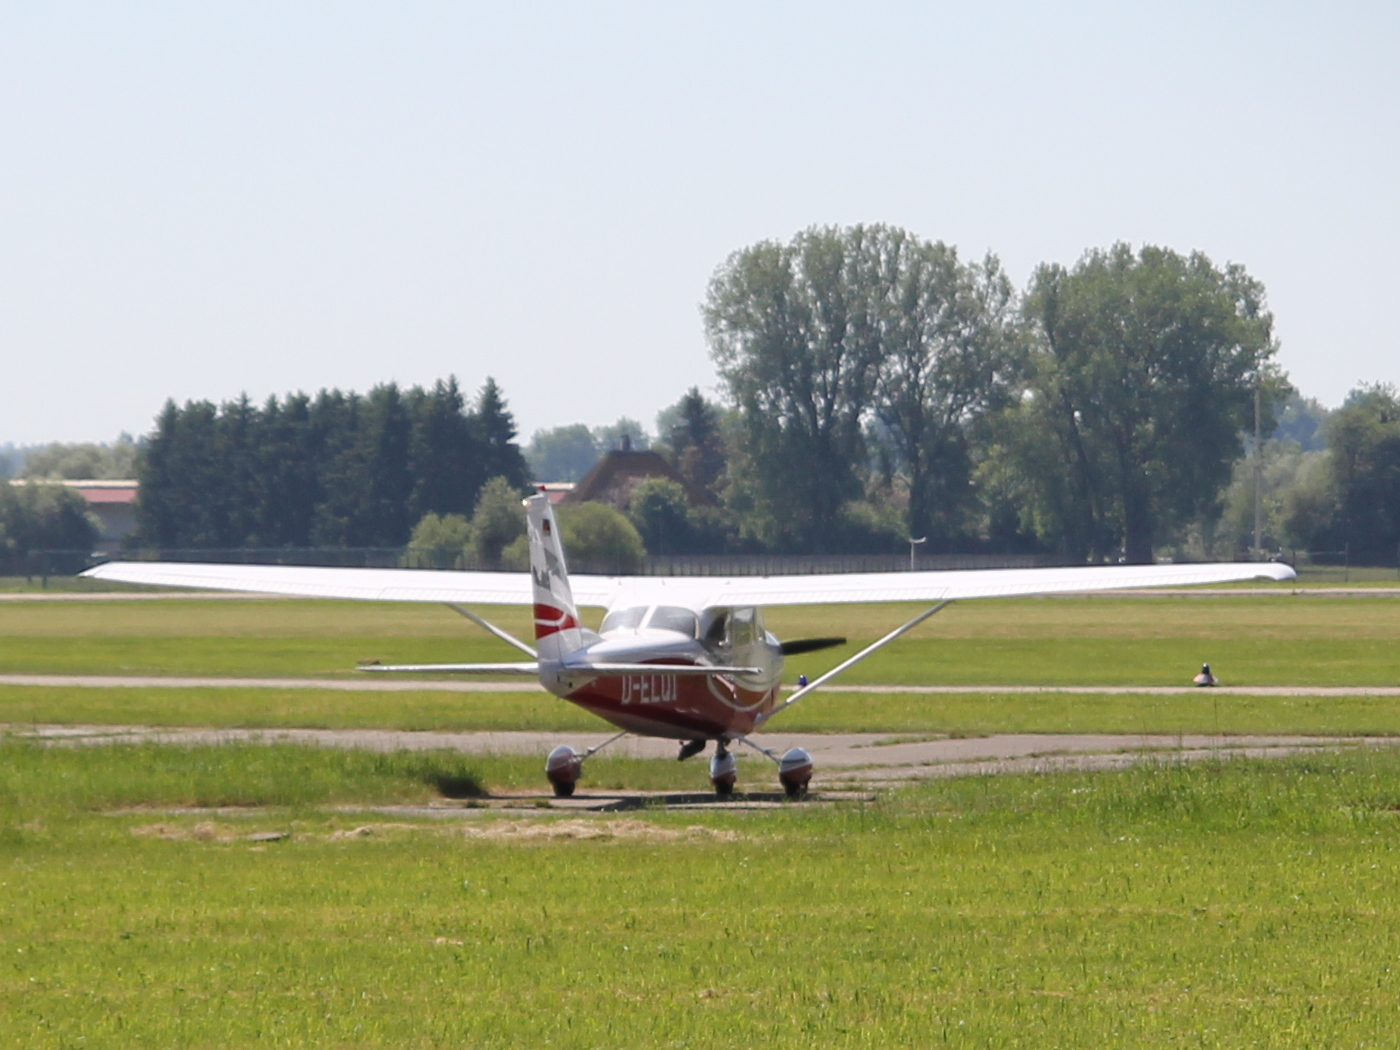
[[[456,379],[255,406],[167,402],[137,466],[137,535],[154,547],[396,547],[426,514],[470,514],[491,477],[528,470],[494,381]]]

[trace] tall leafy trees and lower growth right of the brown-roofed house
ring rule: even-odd
[[[627,508],[648,550],[1400,559],[1396,391],[1301,398],[1242,266],[1113,245],[1018,293],[991,255],[813,228],[735,252],[704,319],[724,402],[687,393],[655,448],[715,505],[648,482]]]

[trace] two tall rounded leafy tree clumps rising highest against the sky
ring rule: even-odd
[[[809,230],[731,256],[706,322],[734,484],[763,538],[811,550],[864,503],[932,549],[1151,560],[1217,500],[1256,386],[1271,405],[1282,382],[1263,287],[1162,248],[1046,265],[1018,295],[995,256]]]

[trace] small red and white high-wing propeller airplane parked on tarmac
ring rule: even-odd
[[[615,736],[582,753],[568,745],[550,752],[545,774],[556,795],[573,795],[584,762],[633,734],[680,741],[680,759],[699,755],[714,741],[710,781],[720,798],[734,792],[738,778],[732,745],[749,746],[777,763],[783,790],[794,799],[806,794],[812,778],[811,755],[802,748],[792,748],[780,756],[750,735],[773,715],[811,696],[951,602],[1295,577],[1291,567],[1277,563],[780,577],[570,577],[549,497],[528,497],[525,517],[528,575],[161,561],[109,561],[83,575],[302,598],[442,602],[521,650],[529,659],[505,664],[374,664],[361,669],[372,673],[538,676],[550,693],[617,727]],[[784,699],[784,657],[841,645],[846,638],[778,641],[763,626],[763,608],[837,602],[923,602],[928,608],[819,678],[808,682],[802,676],[798,689]],[[512,637],[468,605],[533,605],[535,645]],[[598,631],[582,626],[580,605],[606,609]]]

